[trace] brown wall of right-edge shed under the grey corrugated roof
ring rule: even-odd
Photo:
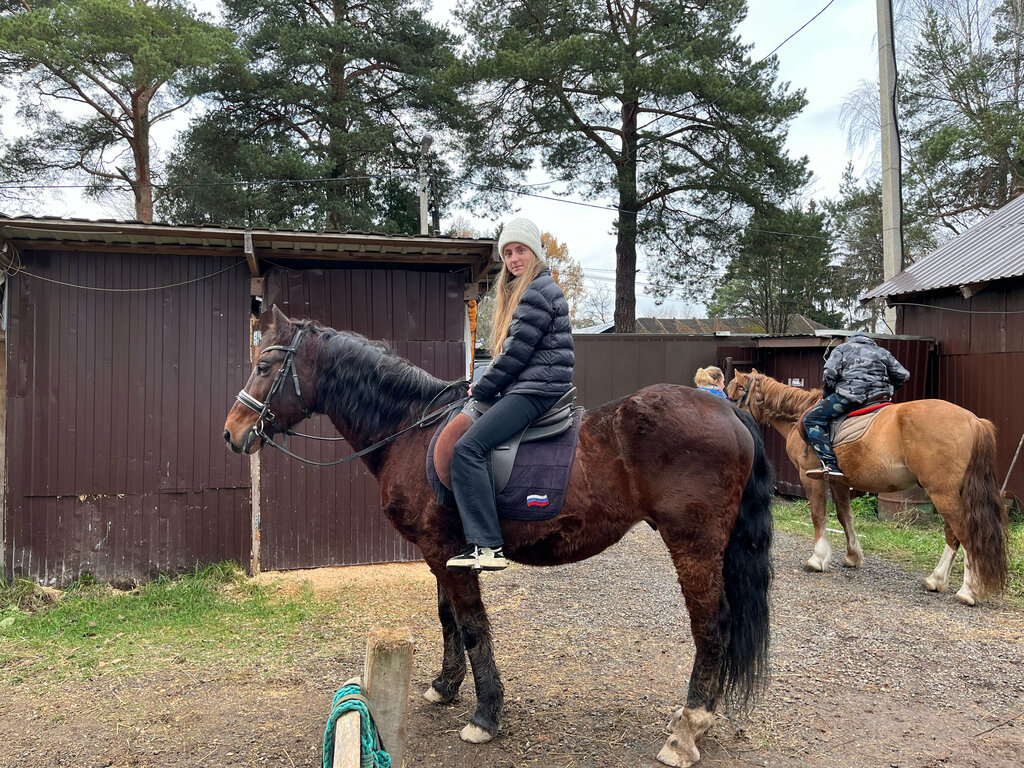
[[[1024,280],[999,281],[970,299],[955,289],[910,296],[899,307],[901,333],[938,339],[934,396],[989,419],[997,432],[999,484],[1024,434]],[[925,306],[916,306],[924,304]],[[954,311],[951,311],[954,310]],[[1024,497],[1024,456],[1008,487]]]

